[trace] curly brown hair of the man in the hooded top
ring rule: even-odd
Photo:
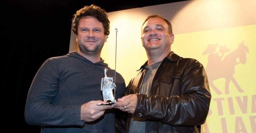
[[[102,22],[102,25],[104,27],[104,34],[109,35],[109,29],[110,29],[110,22],[108,20],[108,15],[106,11],[99,6],[96,6],[94,4],[90,6],[85,6],[81,8],[80,10],[76,11],[76,14],[73,15],[72,20],[72,31],[75,35],[77,35],[78,30],[78,23],[81,18],[89,18],[94,17],[98,21]]]

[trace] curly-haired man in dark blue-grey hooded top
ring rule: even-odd
[[[47,59],[30,86],[25,107],[28,124],[41,125],[41,132],[115,132],[115,109],[104,103],[101,78],[115,71],[100,57],[109,35],[106,11],[85,6],[74,14],[72,31],[79,51]],[[123,77],[117,73],[116,98],[125,90]]]

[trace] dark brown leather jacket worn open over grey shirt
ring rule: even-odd
[[[126,88],[126,95],[137,93],[134,116],[147,119],[145,133],[193,133],[197,130],[195,125],[200,132],[211,100],[203,65],[171,52],[158,67],[150,94],[145,95],[138,92],[146,65],[147,62]]]

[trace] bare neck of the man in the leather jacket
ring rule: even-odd
[[[158,52],[158,51],[148,52],[147,51],[148,66],[162,61],[170,52],[171,52],[171,49],[166,52]]]

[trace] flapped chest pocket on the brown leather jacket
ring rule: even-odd
[[[173,74],[164,73],[161,75],[160,95],[172,96],[181,94],[181,80],[183,71],[176,71]]]

